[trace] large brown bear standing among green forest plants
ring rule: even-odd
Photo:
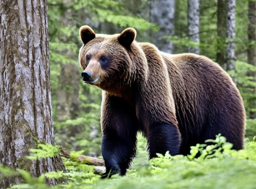
[[[242,149],[245,109],[230,76],[204,56],[163,53],[135,37],[133,28],[115,35],[80,28],[83,81],[103,90],[102,177],[130,168],[138,131],[147,138],[149,158],[186,155],[219,133]]]

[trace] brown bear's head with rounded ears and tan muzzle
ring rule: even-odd
[[[82,26],[79,62],[84,83],[113,93],[131,86],[138,79],[139,62],[146,61],[135,37],[133,28],[125,29],[121,34],[105,35],[95,34],[89,26]]]

